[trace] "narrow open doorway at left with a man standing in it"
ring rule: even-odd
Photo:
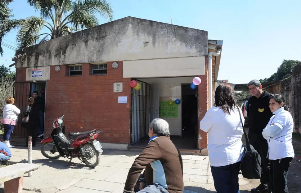
[[[44,137],[44,120],[45,120],[45,99],[46,99],[46,81],[31,82],[30,83],[30,96],[33,96],[33,92],[38,92],[38,97],[35,99],[40,105],[40,125],[37,128],[37,139],[43,139]]]

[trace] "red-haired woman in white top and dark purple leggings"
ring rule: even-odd
[[[9,140],[11,138],[12,131],[15,129],[18,115],[20,114],[20,109],[18,109],[14,103],[15,99],[13,97],[7,98],[6,105],[3,108],[3,117],[1,119],[1,123],[4,127],[3,143],[5,143],[9,148],[15,147],[11,146]]]

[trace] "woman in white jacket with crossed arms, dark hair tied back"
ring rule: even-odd
[[[269,147],[267,152],[270,161],[269,187],[273,193],[288,193],[286,177],[294,158],[292,144],[294,121],[281,95],[272,96],[270,109],[274,115],[262,132]]]

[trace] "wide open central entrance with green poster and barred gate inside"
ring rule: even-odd
[[[139,91],[132,89],[131,139],[136,139],[135,136],[138,138],[135,141],[131,140],[129,148],[133,148],[132,150],[145,148],[149,142],[149,123],[154,118],[162,118],[168,122],[170,138],[177,148],[198,151],[198,95],[197,89],[190,88],[192,79],[193,77],[162,77],[136,80],[141,84],[141,89]],[[146,88],[146,91],[143,90],[143,87]],[[142,101],[145,100],[143,93],[146,93],[146,105],[139,103],[138,98],[143,99]],[[180,99],[182,102],[169,105],[170,100],[175,101],[176,99]],[[138,104],[137,107],[135,104]],[[145,122],[144,116],[141,116],[144,111],[146,112]],[[140,123],[143,127],[140,127]],[[184,131],[182,125],[186,128]],[[141,132],[141,128],[145,128],[146,131]],[[142,136],[146,137],[142,138]]]

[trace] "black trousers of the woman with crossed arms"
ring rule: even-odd
[[[270,160],[270,189],[273,193],[288,193],[286,177],[289,173],[292,157]]]

